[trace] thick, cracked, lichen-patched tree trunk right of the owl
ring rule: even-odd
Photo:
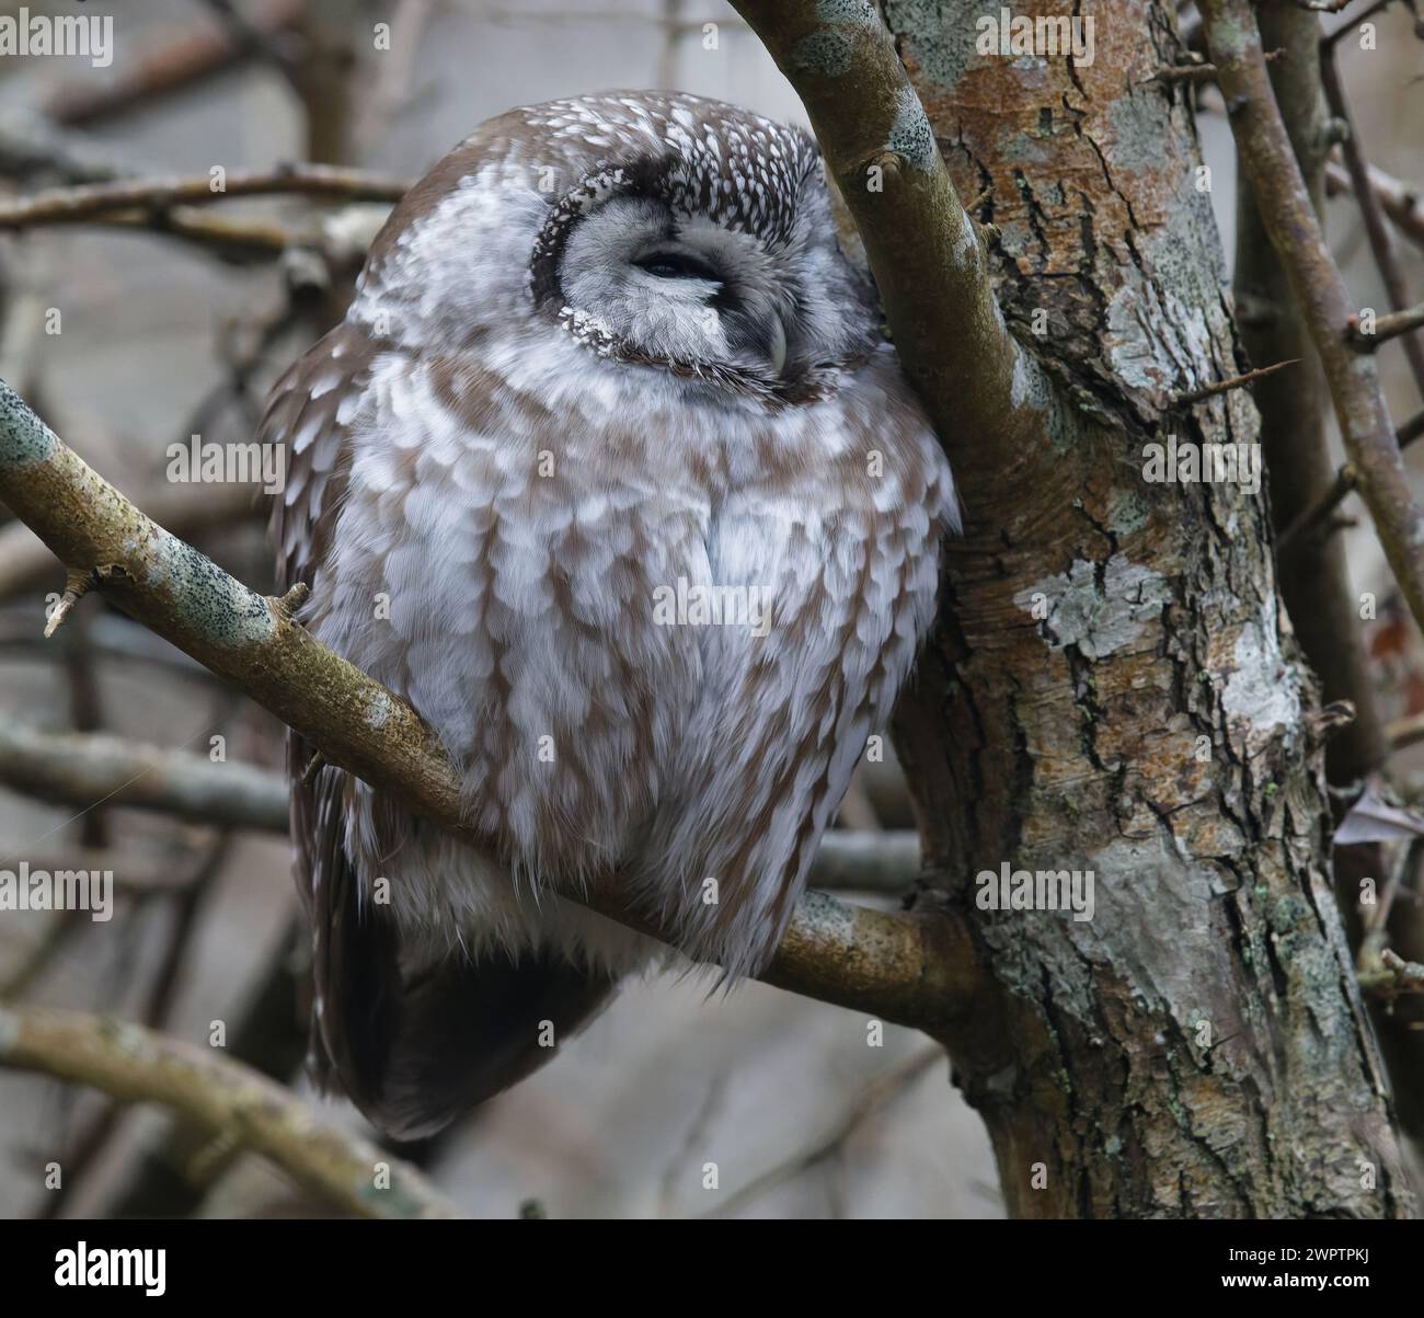
[[[829,137],[837,80],[864,78],[836,43],[867,7],[739,7]],[[1027,437],[944,433],[965,533],[897,731],[946,876],[918,905],[990,967],[948,1039],[958,1084],[1017,1215],[1404,1215],[1265,492],[1143,476],[1169,436],[1259,439],[1245,390],[1179,402],[1250,363],[1188,90],[1153,78],[1179,58],[1172,6],[1077,6],[1077,66],[977,54],[1000,9],[880,6],[990,225],[1004,315],[1075,405]],[[1004,862],[1092,871],[1094,919],[978,910],[965,876]]]

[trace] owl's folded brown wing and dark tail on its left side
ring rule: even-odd
[[[326,603],[320,574],[346,497],[347,426],[373,355],[359,331],[333,329],[278,382],[262,422],[265,442],[288,446],[272,516],[279,586],[313,588],[308,620]],[[352,778],[330,765],[308,775],[313,755],[288,734],[298,891],[312,922],[308,1064],[319,1087],[345,1091],[376,1126],[419,1138],[548,1060],[541,1026],[575,1033],[615,980],[543,950],[413,969],[390,908],[362,899],[346,853]]]

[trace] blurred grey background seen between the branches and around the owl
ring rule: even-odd
[[[803,121],[755,36],[715,0],[27,7],[112,14],[114,53],[103,68],[0,57],[0,204],[66,184],[299,160],[413,180],[488,115],[611,87],[675,87]],[[1111,21],[1111,4],[1084,9]],[[19,10],[0,0],[0,16]],[[1371,161],[1417,181],[1421,47],[1401,7],[1377,21],[1368,61],[1343,47],[1347,91]],[[389,24],[386,48],[379,24]],[[1215,90],[1199,101],[1229,258],[1230,135]],[[141,507],[269,590],[261,500],[251,487],[168,483],[167,449],[194,433],[251,439],[266,386],[340,316],[384,209],[234,198],[202,211],[228,222],[222,241],[147,222],[0,237],[0,378]],[[1358,303],[1386,309],[1350,197],[1331,201],[1329,231]],[[1398,255],[1417,299],[1417,238],[1401,238]],[[1381,363],[1403,420],[1418,406],[1413,382],[1397,348]],[[1417,470],[1421,455],[1410,457]],[[1360,516],[1353,497],[1344,512]],[[1387,598],[1373,534],[1346,534],[1356,587]],[[10,784],[0,868],[104,853],[121,896],[108,923],[0,915],[0,1000],[114,1012],[195,1043],[224,1022],[232,1056],[302,1086],[305,938],[285,836],[105,806],[83,784],[71,801],[40,804],[17,768],[24,738],[44,730],[209,764],[221,737],[222,762],[278,772],[281,728],[97,600],[41,641],[46,594],[61,587],[33,537],[0,526],[0,765],[6,738],[11,764],[0,768]],[[1386,607],[1368,637],[1386,715],[1424,710],[1413,630]],[[840,822],[911,826],[893,767],[857,782]],[[857,899],[894,903],[913,859],[891,851],[900,859],[874,882],[881,891]],[[322,1110],[363,1124],[343,1104]],[[860,1016],[755,983],[711,1000],[691,982],[631,985],[551,1066],[402,1154],[481,1217],[1001,1215],[983,1128],[928,1040],[887,1026],[883,1046],[869,1046]],[[44,1184],[50,1161],[64,1167],[58,1190]],[[709,1161],[715,1190],[703,1187]],[[271,1164],[199,1148],[159,1110],[112,1110],[93,1093],[0,1071],[0,1215],[328,1211]]]

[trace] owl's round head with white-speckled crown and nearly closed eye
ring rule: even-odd
[[[513,110],[372,248],[355,313],[393,342],[537,349],[772,403],[874,346],[809,134],[719,101],[609,93]]]

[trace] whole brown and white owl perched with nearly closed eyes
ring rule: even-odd
[[[275,386],[281,586],[434,730],[481,839],[293,734],[312,1069],[390,1136],[629,975],[768,963],[957,526],[879,323],[806,133],[611,93],[446,155]],[[609,875],[675,952],[560,895]]]

